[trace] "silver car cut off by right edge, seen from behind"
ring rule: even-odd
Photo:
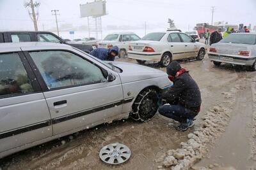
[[[256,71],[256,33],[235,33],[211,45],[209,59],[220,66],[221,62],[248,66]]]

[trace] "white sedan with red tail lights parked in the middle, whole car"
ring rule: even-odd
[[[205,45],[195,42],[180,31],[152,32],[129,44],[128,57],[143,64],[146,61],[159,62],[166,67],[172,60],[204,59]]]

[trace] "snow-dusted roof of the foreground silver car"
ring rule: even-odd
[[[71,50],[72,46],[60,43],[46,42],[22,42],[22,43],[0,43],[0,53],[19,52],[20,50]]]

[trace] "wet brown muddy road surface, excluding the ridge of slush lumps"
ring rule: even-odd
[[[136,63],[134,60],[122,60]],[[189,69],[191,76],[195,78],[203,101],[202,111],[195,120],[195,127],[189,131],[175,131],[174,127],[168,126],[170,120],[158,115],[145,123],[121,120],[1,159],[1,169],[161,169],[164,167],[163,160],[166,159],[168,150],[177,150],[180,148],[180,143],[187,143],[188,134],[202,127],[201,118],[211,109],[228,104],[230,108],[228,111],[231,112],[228,113],[230,117],[227,117],[226,122],[230,121],[230,124],[223,125],[220,134],[224,132],[226,126],[227,131],[223,133],[222,138],[217,138],[220,134],[216,135],[215,147],[211,142],[205,146],[207,148],[205,151],[211,146],[211,151],[208,154],[205,152],[205,157],[210,159],[203,159],[196,164],[196,167],[218,164],[223,167],[245,169],[248,165],[253,166],[254,162],[248,160],[254,146],[250,141],[255,141],[250,136],[254,106],[250,80],[253,78],[253,73],[230,65],[215,67],[207,57],[202,61],[181,62],[181,65]],[[157,64],[147,64],[147,66],[166,70]],[[230,92],[232,88],[237,88],[237,91]],[[228,101],[228,92],[233,97],[234,103],[224,103]],[[225,110],[222,113],[225,115]],[[100,148],[116,142],[129,146],[131,158],[120,166],[104,164],[99,160]],[[236,164],[233,164],[235,162]],[[237,164],[239,165],[236,166]]]

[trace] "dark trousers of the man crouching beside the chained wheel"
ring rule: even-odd
[[[159,106],[158,112],[164,117],[172,118],[180,123],[185,123],[187,119],[193,120],[198,114],[198,112],[189,110],[180,104]]]

